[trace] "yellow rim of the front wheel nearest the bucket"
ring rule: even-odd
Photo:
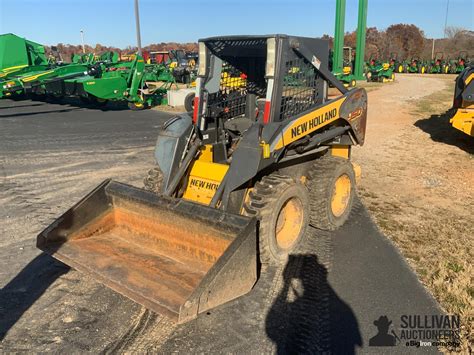
[[[303,204],[295,197],[281,207],[275,227],[276,242],[280,249],[291,249],[298,241],[303,228],[303,213]]]

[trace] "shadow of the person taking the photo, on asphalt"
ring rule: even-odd
[[[265,329],[278,354],[354,354],[362,337],[352,309],[329,285],[313,254],[291,255]]]

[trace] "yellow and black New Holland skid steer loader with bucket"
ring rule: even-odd
[[[287,35],[200,40],[194,111],[161,128],[146,189],[103,182],[38,247],[177,322],[249,292],[258,260],[284,263],[308,224],[336,229],[352,206],[367,95],[328,53]]]

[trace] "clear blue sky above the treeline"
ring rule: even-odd
[[[142,45],[195,42],[226,34],[319,37],[334,34],[335,0],[139,0]],[[368,27],[420,27],[442,38],[448,26],[474,30],[474,0],[368,0]],[[357,26],[358,0],[346,0],[346,31]],[[0,0],[0,34],[15,33],[46,45],[85,42],[136,45],[133,0]]]

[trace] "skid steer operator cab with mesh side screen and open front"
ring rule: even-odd
[[[227,151],[255,123],[283,122],[326,100],[326,82],[313,64],[291,50],[295,41],[318,53],[327,67],[324,40],[273,35],[199,41],[193,119],[205,144],[223,144]],[[278,51],[287,54],[281,58]]]

